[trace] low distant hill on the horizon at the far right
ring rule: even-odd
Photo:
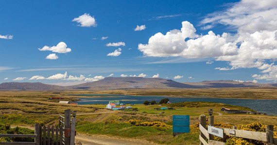
[[[206,87],[206,88],[218,88],[218,87],[277,87],[273,84],[259,84],[253,82],[238,82],[238,81],[203,81],[196,83],[184,83],[187,85],[197,86],[197,87]]]

